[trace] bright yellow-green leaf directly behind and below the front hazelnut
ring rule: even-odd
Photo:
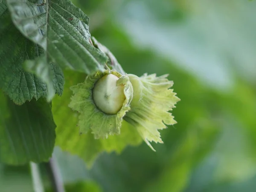
[[[122,122],[121,134],[111,135],[108,139],[95,140],[92,133],[79,134],[78,113],[68,107],[70,97],[73,95],[70,87],[81,83],[85,75],[72,71],[64,72],[66,83],[61,97],[55,97],[52,101],[52,113],[57,125],[56,145],[62,150],[77,154],[88,165],[91,165],[96,157],[103,151],[121,151],[127,145],[139,145],[142,142],[140,135],[134,127],[126,122]]]

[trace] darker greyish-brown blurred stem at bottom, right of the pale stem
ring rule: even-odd
[[[54,154],[52,154],[52,158],[49,160],[46,166],[54,191],[65,192],[61,172],[59,170],[58,163],[54,157]]]

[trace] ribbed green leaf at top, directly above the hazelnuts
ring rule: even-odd
[[[7,2],[15,26],[44,48],[48,62],[87,74],[104,69],[107,57],[89,42],[89,18],[70,0]]]

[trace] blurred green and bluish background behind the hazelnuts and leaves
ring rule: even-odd
[[[181,101],[157,152],[128,146],[87,169],[55,148],[67,192],[255,192],[256,1],[73,3],[127,73],[169,73]],[[0,192],[12,191],[32,192],[28,166],[0,164]]]

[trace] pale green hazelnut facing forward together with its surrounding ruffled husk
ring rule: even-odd
[[[90,131],[96,139],[120,134],[123,117],[131,109],[133,96],[128,76],[115,70],[98,71],[70,89],[74,95],[69,107],[80,113],[80,133]]]

